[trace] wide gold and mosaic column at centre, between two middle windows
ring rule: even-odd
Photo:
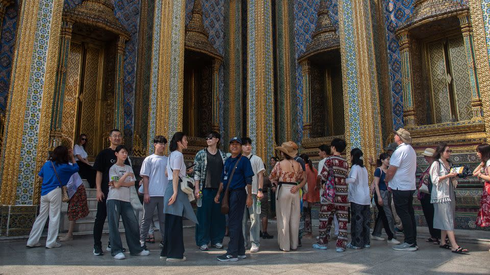
[[[253,154],[263,160],[274,154],[274,61],[271,0],[249,0],[247,90],[248,134]]]

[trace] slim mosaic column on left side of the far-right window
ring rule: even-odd
[[[410,37],[408,32],[399,34],[400,56],[402,59],[402,89],[403,89],[403,119],[407,126],[417,124],[413,106],[413,91],[411,87],[412,66],[410,58]]]

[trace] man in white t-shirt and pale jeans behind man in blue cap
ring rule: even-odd
[[[254,176],[252,177],[253,204],[250,207],[245,207],[242,220],[243,238],[245,240],[245,247],[247,248],[247,237],[249,235],[247,234],[247,221],[250,217],[250,242],[252,243],[250,252],[258,252],[260,246],[260,214],[257,213],[257,198],[261,199],[263,196],[262,185],[264,182],[265,167],[262,159],[259,156],[252,154],[252,140],[250,137],[245,137],[242,139],[242,142],[242,155],[250,159],[252,170],[254,171]]]

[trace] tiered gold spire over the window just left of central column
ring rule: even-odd
[[[201,0],[194,1],[192,18],[185,27],[185,48],[223,60],[223,56],[209,42],[209,34],[204,29]]]

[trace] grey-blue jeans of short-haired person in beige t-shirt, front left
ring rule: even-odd
[[[111,255],[116,256],[118,253],[122,253],[122,241],[119,235],[119,217],[122,218],[122,225],[124,225],[126,243],[128,244],[130,254],[136,255],[143,251],[139,243],[138,219],[136,219],[131,203],[119,200],[107,200],[106,205]]]

